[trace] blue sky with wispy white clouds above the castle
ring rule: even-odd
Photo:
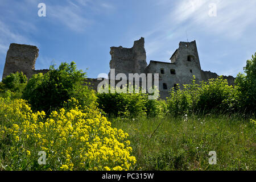
[[[179,42],[196,40],[201,69],[236,77],[256,52],[255,9],[255,0],[0,0],[0,80],[10,43],[39,48],[35,69],[75,61],[97,78],[110,47],[141,37],[147,63],[170,62]]]

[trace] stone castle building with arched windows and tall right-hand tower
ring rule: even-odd
[[[150,61],[145,72],[159,73],[159,91],[161,98],[168,96],[171,88],[178,84],[189,84],[193,75],[196,81],[201,81],[201,66],[197,52],[196,41],[180,42],[170,58],[171,63]]]

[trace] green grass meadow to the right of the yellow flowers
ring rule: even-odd
[[[135,170],[255,170],[255,125],[240,115],[109,118],[129,134]],[[209,165],[209,151],[217,164]]]

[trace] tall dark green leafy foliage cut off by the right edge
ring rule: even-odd
[[[256,111],[256,52],[252,59],[246,61],[245,74],[239,73],[236,78],[240,98],[240,109]]]

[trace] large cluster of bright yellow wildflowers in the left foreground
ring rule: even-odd
[[[6,169],[129,170],[136,162],[128,134],[112,128],[95,107],[62,108],[46,117],[24,100],[0,98],[0,105],[0,162]],[[39,151],[47,154],[45,165],[38,164]]]

